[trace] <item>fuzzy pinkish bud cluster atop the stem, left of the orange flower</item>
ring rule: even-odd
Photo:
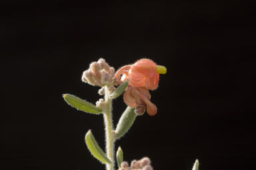
[[[115,69],[106,63],[105,59],[99,59],[90,64],[89,69],[83,71],[82,81],[90,85],[103,87],[104,85],[113,85]]]

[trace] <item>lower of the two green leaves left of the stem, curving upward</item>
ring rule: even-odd
[[[98,159],[101,163],[111,163],[109,158],[105,155],[105,153],[102,151],[102,149],[99,147],[97,141],[93,137],[93,134],[91,133],[91,130],[89,130],[85,135],[85,143],[87,145],[87,148],[91,152],[91,155]]]

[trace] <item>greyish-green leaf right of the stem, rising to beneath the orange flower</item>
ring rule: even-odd
[[[127,133],[136,117],[137,114],[134,112],[134,108],[128,106],[117,123],[117,129],[115,129],[116,139],[123,137]]]

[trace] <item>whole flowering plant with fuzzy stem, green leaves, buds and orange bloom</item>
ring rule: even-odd
[[[140,59],[132,65],[125,65],[115,71],[104,59],[90,64],[89,69],[83,72],[82,81],[93,86],[99,86],[99,95],[104,95],[96,105],[89,103],[74,95],[64,94],[65,101],[80,111],[103,115],[105,121],[106,153],[99,147],[91,130],[85,135],[87,148],[101,163],[106,165],[107,170],[115,169],[115,141],[123,137],[130,129],[138,115],[145,111],[150,116],[157,113],[157,107],[150,101],[149,90],[157,89],[159,74],[165,74],[167,69],[157,65],[150,59]],[[124,93],[124,94],[123,94]],[[123,101],[127,109],[121,115],[117,127],[113,129],[112,101],[123,94]],[[139,161],[133,160],[131,165],[123,161],[121,147],[117,150],[116,160],[119,170],[153,170],[148,157]],[[198,161],[193,170],[198,169]]]

